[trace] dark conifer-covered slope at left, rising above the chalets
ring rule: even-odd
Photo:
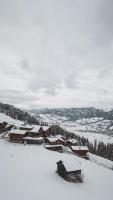
[[[40,122],[29,113],[24,112],[13,105],[0,103],[0,112],[29,124],[40,124]]]

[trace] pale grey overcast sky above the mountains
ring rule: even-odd
[[[0,0],[0,99],[113,107],[113,0]]]

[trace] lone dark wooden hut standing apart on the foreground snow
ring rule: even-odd
[[[62,162],[62,160],[57,163],[57,173],[64,178],[66,181],[82,183],[82,174],[81,167],[78,163],[75,165],[75,162],[72,160],[66,160]]]

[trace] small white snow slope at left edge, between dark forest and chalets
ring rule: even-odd
[[[9,124],[14,124],[16,126],[20,126],[23,122],[17,119],[13,119],[12,117],[5,115],[4,113],[0,113],[0,123],[7,122]]]

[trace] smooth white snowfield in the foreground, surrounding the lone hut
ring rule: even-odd
[[[70,183],[57,175],[56,162],[81,164],[83,183]],[[0,139],[0,200],[112,200],[113,171],[75,155],[61,154],[42,145],[8,143]]]

